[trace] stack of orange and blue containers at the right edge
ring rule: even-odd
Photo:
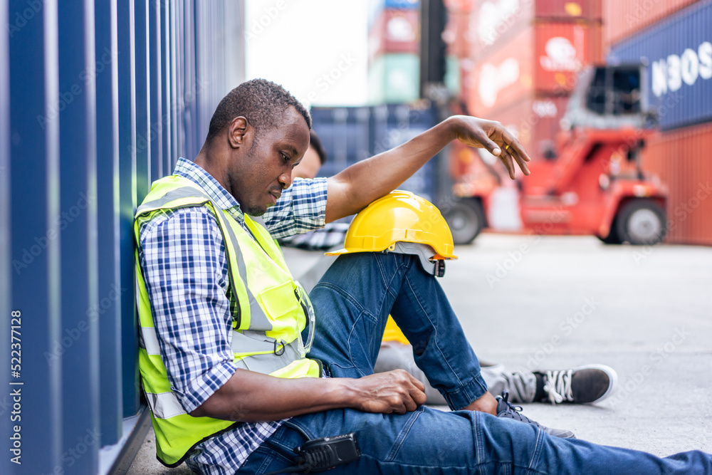
[[[643,153],[669,186],[668,242],[712,245],[712,0],[607,1],[610,62],[647,64],[661,133]]]

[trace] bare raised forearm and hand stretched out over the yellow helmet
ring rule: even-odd
[[[355,214],[370,202],[392,192],[437,152],[458,139],[471,147],[486,148],[515,176],[515,162],[529,174],[529,155],[499,122],[454,115],[403,145],[348,167],[328,179],[326,222]]]

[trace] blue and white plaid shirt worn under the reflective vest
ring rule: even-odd
[[[183,158],[175,174],[199,184],[216,207],[243,227],[235,198],[204,169]],[[326,179],[297,179],[263,215],[275,237],[324,226]],[[236,370],[225,244],[206,207],[156,213],[140,222],[139,261],[168,379],[186,412],[224,385]],[[201,442],[186,463],[202,474],[234,474],[283,421],[238,424]]]

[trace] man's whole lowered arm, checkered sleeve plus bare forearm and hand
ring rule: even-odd
[[[425,402],[407,372],[285,378],[235,367],[224,242],[211,212],[167,212],[142,227],[140,260],[169,382],[194,416],[274,421],[337,407],[406,412]]]

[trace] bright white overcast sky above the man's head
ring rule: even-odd
[[[273,80],[305,105],[363,105],[366,4],[246,0],[246,78]]]

